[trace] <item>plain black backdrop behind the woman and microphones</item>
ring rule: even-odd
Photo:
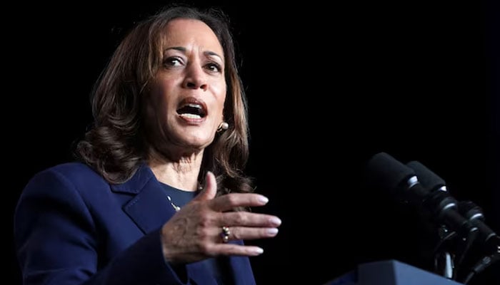
[[[204,2],[204,1],[201,1]],[[323,284],[381,259],[431,268],[424,222],[362,187],[376,152],[419,160],[500,232],[499,24],[495,1],[213,1],[231,17],[249,98],[259,212],[283,220],[252,258],[258,284]],[[344,3],[349,2],[349,3]],[[70,159],[89,92],[127,29],[160,7],[22,4],[4,24],[6,242],[35,172]],[[202,4],[206,6],[206,4]],[[7,76],[7,77],[5,77]],[[4,172],[5,173],[5,172]],[[5,240],[5,239],[4,239]]]

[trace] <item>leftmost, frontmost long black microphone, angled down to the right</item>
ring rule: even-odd
[[[421,175],[424,179],[433,179],[433,188],[444,186],[444,181],[430,175]],[[458,202],[446,191],[431,192],[419,181],[420,177],[411,167],[404,165],[386,152],[379,152],[367,163],[367,182],[381,189],[389,190],[396,196],[417,207],[431,212],[431,219],[446,225],[450,230],[466,236],[476,231],[476,226],[458,212]],[[439,188],[439,187],[438,187]]]

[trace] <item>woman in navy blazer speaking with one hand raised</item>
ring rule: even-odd
[[[224,14],[139,23],[94,88],[78,162],[35,175],[15,214],[24,284],[254,284],[244,239],[281,221],[242,170],[246,100]]]

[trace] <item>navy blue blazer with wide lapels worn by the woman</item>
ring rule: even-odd
[[[120,185],[79,162],[39,172],[14,216],[24,284],[183,284],[161,251],[161,226],[174,213],[146,165]],[[234,284],[255,284],[248,257],[227,264]],[[188,284],[216,284],[201,262],[186,273]]]

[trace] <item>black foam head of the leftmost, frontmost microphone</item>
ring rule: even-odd
[[[366,164],[366,182],[369,185],[401,195],[408,189],[415,172],[386,152],[379,152]],[[416,182],[416,181],[415,181]]]

